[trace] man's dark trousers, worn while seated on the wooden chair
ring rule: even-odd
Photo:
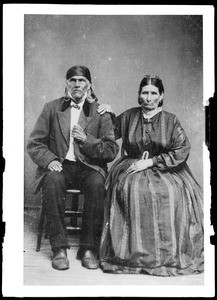
[[[80,233],[80,247],[99,251],[105,186],[103,176],[80,162],[64,160],[63,170],[48,171],[42,195],[45,207],[51,250],[69,248],[65,226],[66,189],[80,189],[84,195],[84,208]]]

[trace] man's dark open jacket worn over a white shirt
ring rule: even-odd
[[[62,111],[65,104],[63,97],[46,103],[29,137],[27,150],[38,165],[34,193],[39,191],[49,163],[55,159],[63,162],[69,150],[71,109],[68,107]],[[107,163],[115,159],[119,147],[110,115],[100,115],[98,106],[95,101],[85,101],[78,124],[84,129],[87,140],[84,144],[74,140],[74,151],[80,162],[105,177]]]

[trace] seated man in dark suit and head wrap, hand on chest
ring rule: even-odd
[[[46,103],[30,135],[27,150],[38,165],[35,193],[42,187],[52,266],[69,268],[64,223],[66,189],[81,189],[84,210],[77,259],[98,268],[107,163],[118,153],[109,113],[97,113],[91,75],[84,66],[66,73],[66,95]]]

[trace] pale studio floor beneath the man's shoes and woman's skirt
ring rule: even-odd
[[[76,260],[78,237],[69,236],[70,268],[54,270],[49,240],[42,238],[41,250],[36,252],[38,211],[25,211],[24,223],[24,285],[25,286],[82,286],[82,285],[203,285],[204,274],[180,277],[149,275],[105,274],[101,269],[88,270]]]

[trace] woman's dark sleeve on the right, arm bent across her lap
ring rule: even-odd
[[[174,117],[170,148],[153,157],[153,167],[161,170],[172,170],[185,163],[190,153],[191,145],[179,120]]]

